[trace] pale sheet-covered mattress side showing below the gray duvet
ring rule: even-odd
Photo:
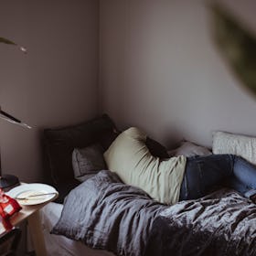
[[[50,230],[59,220],[63,205],[49,203],[40,210],[40,219],[48,256],[113,256],[110,251],[94,250],[80,241],[69,240],[64,236],[52,235]]]

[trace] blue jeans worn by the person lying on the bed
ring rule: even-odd
[[[223,186],[243,196],[251,189],[256,190],[256,166],[237,155],[187,157],[179,200],[203,197]]]

